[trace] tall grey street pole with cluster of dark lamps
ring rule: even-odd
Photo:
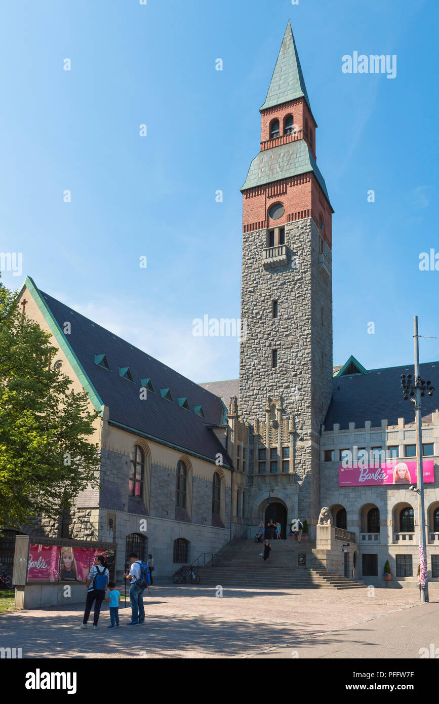
[[[424,382],[419,371],[419,334],[418,316],[414,316],[414,380],[412,375],[405,374],[401,377],[401,388],[404,390],[404,398],[414,403],[416,417],[416,471],[418,473],[417,489],[412,489],[418,494],[418,521],[419,521],[419,596],[421,602],[428,601],[428,572],[426,558],[426,531],[425,531],[425,508],[424,508],[424,474],[422,467],[422,418],[421,418],[421,397],[433,396],[434,388],[431,382]]]

